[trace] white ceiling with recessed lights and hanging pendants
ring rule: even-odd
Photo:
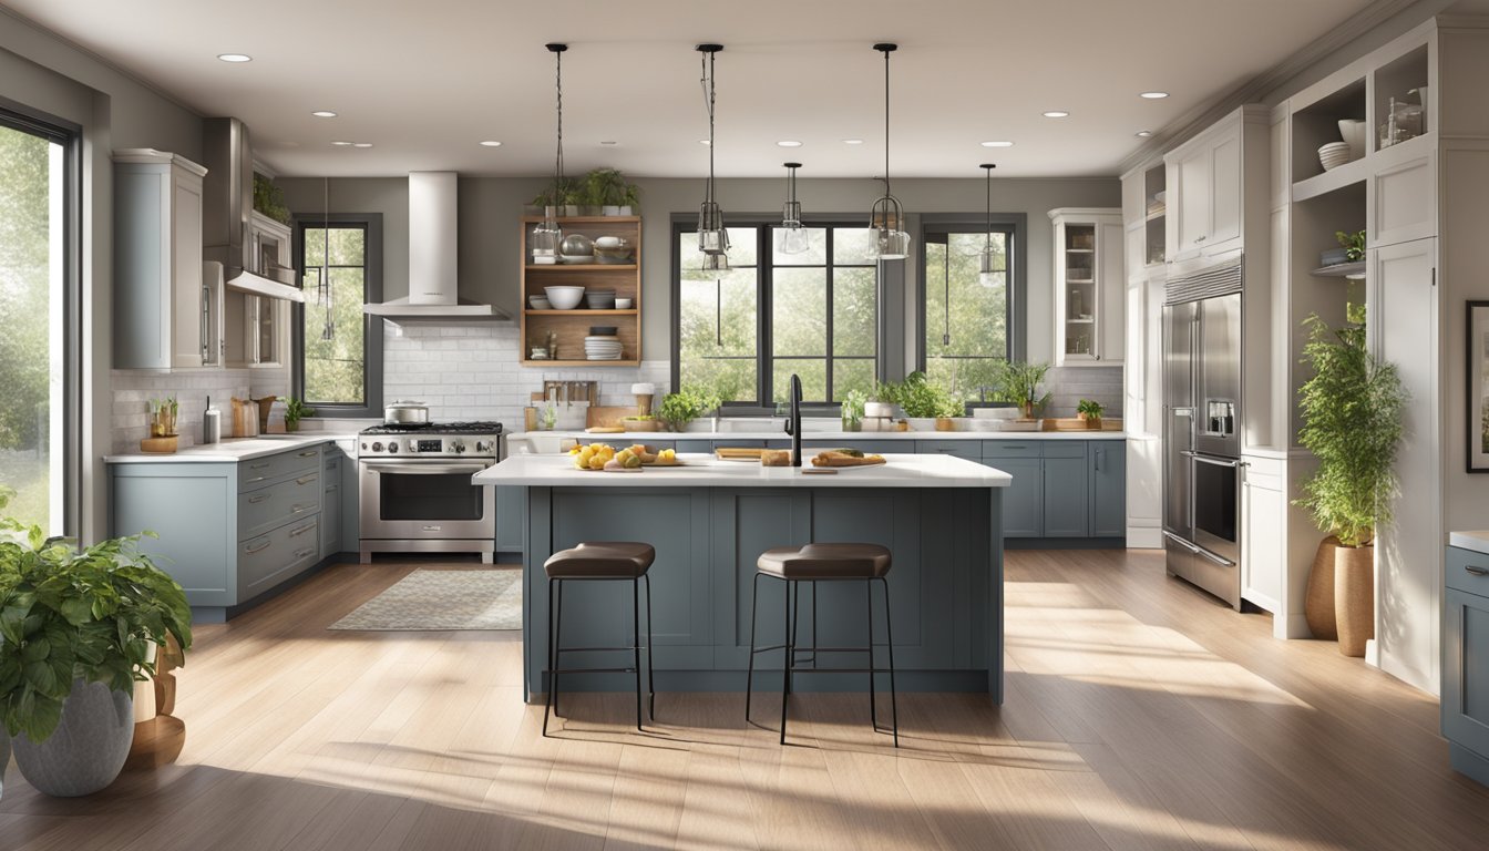
[[[1370,0],[0,0],[203,115],[283,174],[543,174],[564,54],[567,171],[697,176],[697,42],[721,42],[718,171],[803,177],[1112,176],[1142,142]],[[216,58],[243,52],[252,63]],[[1144,100],[1141,91],[1172,92]],[[329,109],[338,118],[313,118]],[[1042,118],[1063,109],[1071,116]],[[847,146],[843,139],[864,139]],[[500,148],[481,148],[484,139]],[[797,149],[776,146],[797,139]],[[371,142],[369,149],[332,140]],[[602,146],[613,140],[613,148]],[[983,140],[1011,140],[989,151]]]

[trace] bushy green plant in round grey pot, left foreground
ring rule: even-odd
[[[13,490],[0,487],[0,508]],[[119,775],[134,738],[134,684],[156,648],[191,647],[186,593],[138,535],[77,547],[0,520],[0,718],[37,790],[91,794]]]

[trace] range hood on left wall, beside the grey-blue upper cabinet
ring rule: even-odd
[[[249,240],[253,212],[253,149],[249,128],[237,118],[208,118],[201,130],[203,159],[203,259],[222,264],[225,283],[255,295],[305,301],[298,286],[259,274]]]

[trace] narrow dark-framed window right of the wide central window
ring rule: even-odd
[[[1018,218],[1021,219],[1021,216]],[[978,398],[996,383],[998,364],[1023,355],[1023,270],[1018,221],[977,225],[932,224],[922,232],[919,368],[962,398]],[[981,252],[992,232],[999,259],[981,280]]]

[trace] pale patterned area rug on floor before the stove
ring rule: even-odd
[[[414,571],[331,629],[521,629],[523,571]]]

